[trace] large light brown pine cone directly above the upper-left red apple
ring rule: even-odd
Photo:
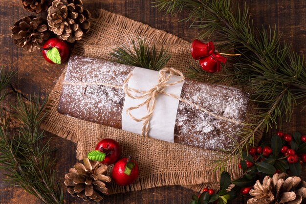
[[[54,0],[48,9],[47,21],[49,30],[58,38],[73,43],[89,31],[89,17],[82,0]]]

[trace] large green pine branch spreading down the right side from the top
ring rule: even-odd
[[[217,167],[224,167],[232,155],[252,145],[256,132],[277,127],[278,117],[290,120],[297,100],[306,99],[304,56],[291,51],[291,45],[281,44],[276,28],[254,28],[247,5],[241,9],[231,0],[157,0],[154,6],[168,14],[188,11],[189,16],[183,20],[201,30],[198,38],[209,39],[214,34],[227,42],[219,51],[233,48],[241,54],[231,59],[232,66],[226,69],[224,78],[188,68],[189,77],[226,80],[250,91],[251,99],[260,104],[259,114],[252,116],[256,122],[240,133],[240,142]]]

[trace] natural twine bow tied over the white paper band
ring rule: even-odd
[[[173,83],[168,83],[171,76],[174,76],[174,75],[180,76],[181,79],[177,80],[176,82],[173,82]],[[154,111],[154,108],[155,108],[156,97],[159,94],[165,94],[165,95],[173,96],[173,94],[166,93],[164,91],[165,88],[183,82],[185,80],[185,77],[184,77],[182,72],[180,72],[178,70],[175,70],[174,68],[164,68],[164,69],[159,71],[158,83],[152,89],[150,89],[149,91],[138,91],[138,90],[128,88],[128,83],[129,83],[129,80],[130,80],[131,76],[132,76],[132,72],[128,75],[128,77],[124,81],[124,84],[123,84],[124,92],[129,97],[131,97],[133,99],[139,99],[139,98],[145,98],[145,97],[147,97],[147,98],[144,102],[138,104],[137,106],[133,106],[133,107],[128,108],[127,109],[127,114],[133,120],[135,120],[137,122],[143,121],[141,134],[143,136],[148,136],[148,133],[149,133],[149,130],[150,130],[150,119],[153,115],[153,111]],[[141,95],[133,95],[131,92],[141,93]],[[141,118],[137,118],[137,117],[135,117],[131,114],[132,110],[138,109],[138,108],[140,108],[144,105],[147,106],[147,110],[148,110],[147,115],[145,115]]]

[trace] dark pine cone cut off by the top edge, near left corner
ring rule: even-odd
[[[53,0],[21,0],[23,8],[29,12],[40,13],[46,11]]]

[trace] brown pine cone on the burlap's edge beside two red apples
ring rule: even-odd
[[[103,195],[109,194],[105,182],[110,182],[111,179],[103,174],[108,166],[99,161],[90,161],[88,158],[84,158],[83,161],[84,165],[74,164],[65,175],[64,183],[67,191],[73,197],[82,198],[84,201],[99,202],[103,199]]]

